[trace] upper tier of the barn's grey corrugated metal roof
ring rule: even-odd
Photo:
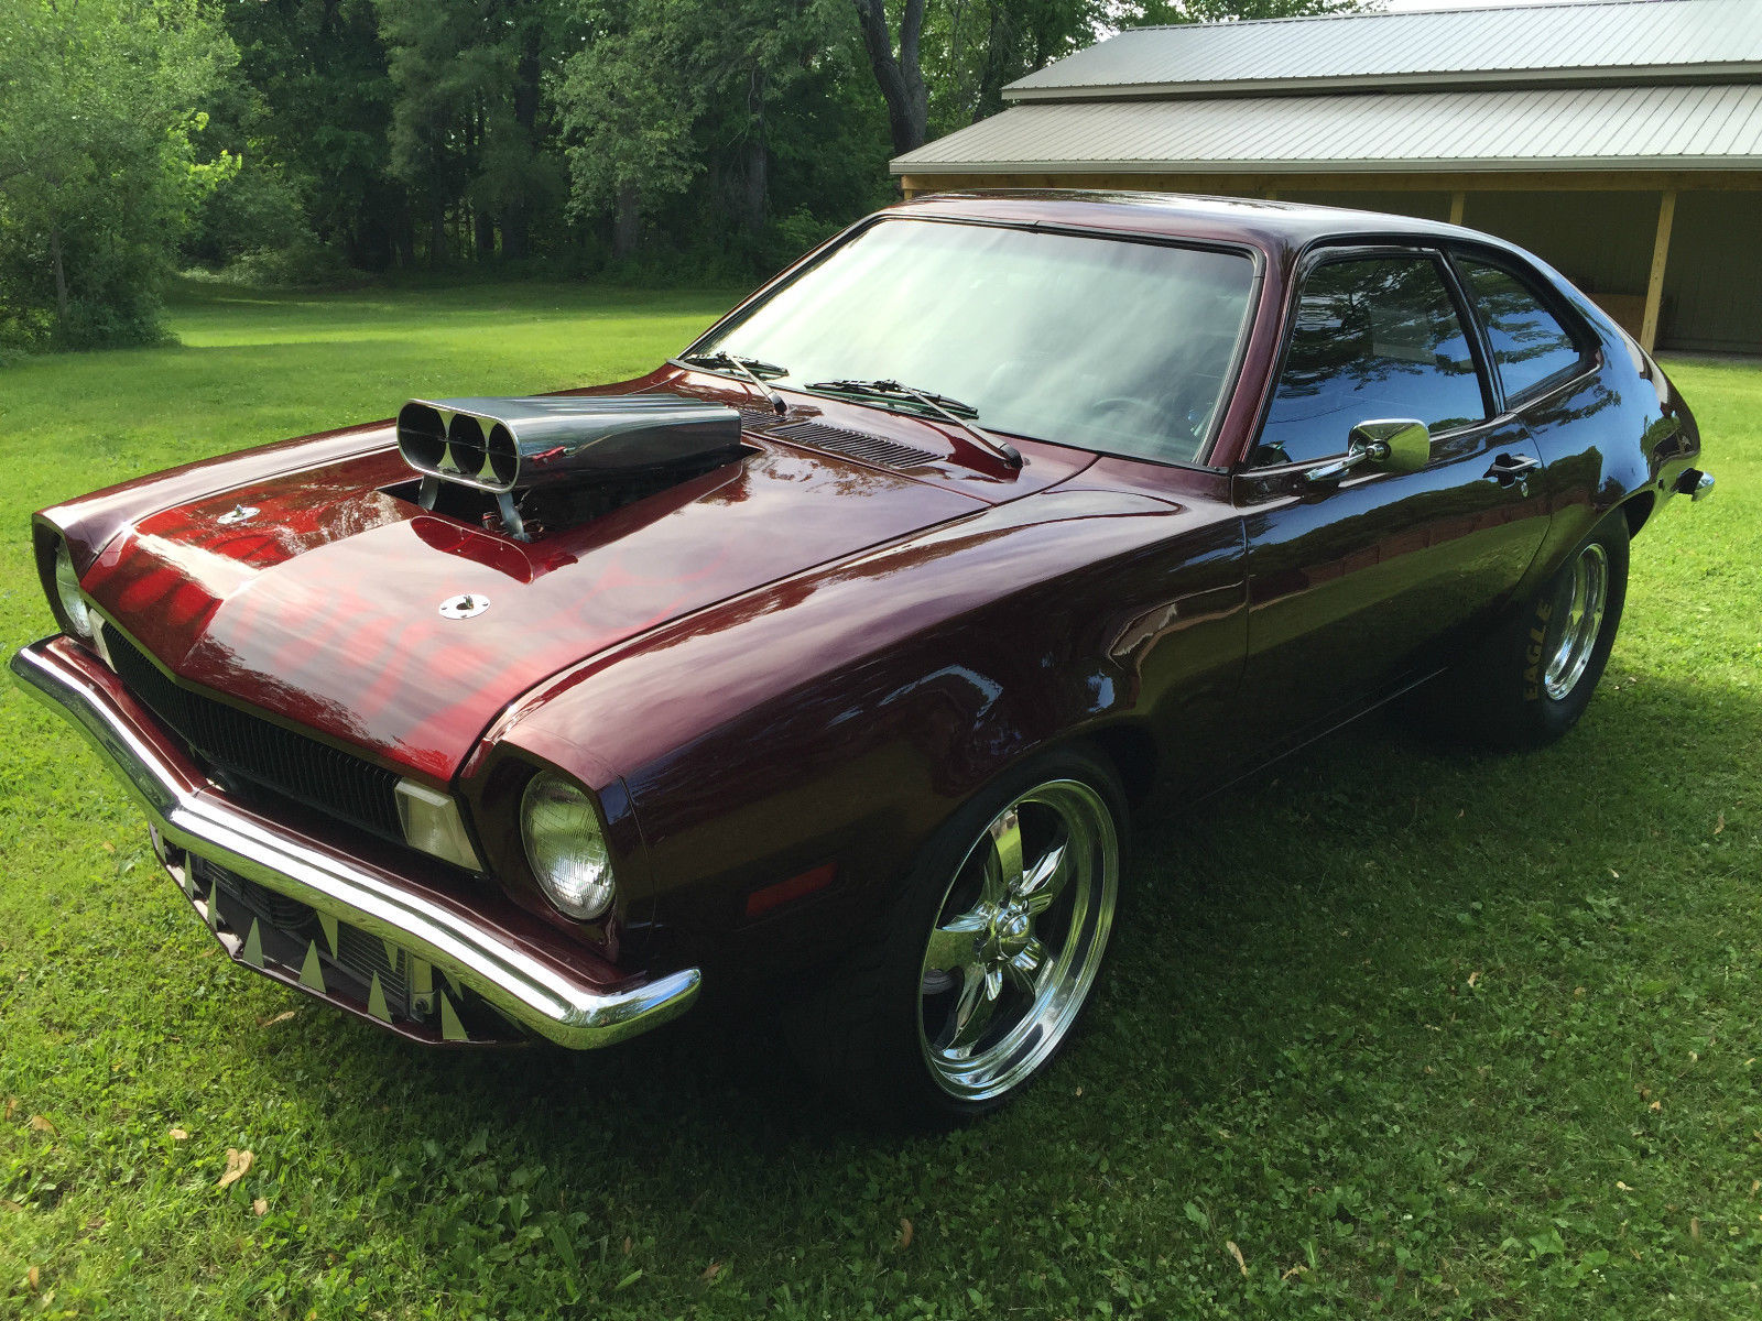
[[[1588,0],[1133,28],[1011,83],[1010,100],[1307,93],[1329,85],[1762,77],[1762,0]]]

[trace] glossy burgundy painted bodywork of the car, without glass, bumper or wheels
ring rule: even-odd
[[[608,935],[544,905],[518,842],[532,766],[581,779],[611,828],[618,956],[703,963],[714,986],[837,956],[948,814],[1048,743],[1096,742],[1133,787],[1216,791],[1427,673],[1610,507],[1642,521],[1699,453],[1662,373],[1561,285],[1593,368],[1445,439],[1425,472],[1323,491],[1249,474],[1318,245],[1529,259],[1277,203],[1004,194],[893,213],[1253,252],[1256,314],[1209,467],[1022,440],[1006,474],[951,428],[786,391],[793,416],[937,458],[892,472],[752,432],[738,463],[520,544],[388,493],[407,472],[375,424],[46,518],[102,611],[185,682],[451,782],[493,902],[537,948]],[[603,389],[655,387],[763,407],[678,366]],[[1503,453],[1545,467],[1505,490],[1484,481]],[[240,502],[255,528],[217,521]],[[456,592],[492,609],[442,620]],[[828,867],[830,886],[749,919],[749,897]]]

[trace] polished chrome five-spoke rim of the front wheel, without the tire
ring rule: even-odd
[[[1107,951],[1119,838],[1082,780],[1003,808],[955,868],[923,951],[918,1044],[936,1085],[999,1097],[1059,1048]]]

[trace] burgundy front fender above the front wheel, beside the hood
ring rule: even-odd
[[[1168,664],[1181,627],[1159,650],[1142,622],[1232,579],[1230,520],[1048,491],[664,625],[534,692],[500,738],[629,787],[670,958],[830,956],[980,786],[1191,683]],[[1233,682],[1240,645],[1188,650]],[[747,921],[754,889],[826,865],[825,891]]]

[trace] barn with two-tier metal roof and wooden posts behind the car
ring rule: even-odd
[[[1762,352],[1762,0],[1122,32],[893,160],[907,196],[1110,187],[1450,218],[1647,345]]]

